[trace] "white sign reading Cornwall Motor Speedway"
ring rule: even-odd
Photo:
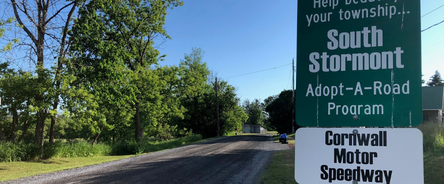
[[[300,184],[424,184],[423,165],[423,134],[416,128],[299,128],[295,134]]]

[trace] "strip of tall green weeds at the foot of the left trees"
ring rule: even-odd
[[[94,144],[87,141],[55,142],[44,148],[40,155],[40,148],[33,143],[0,142],[0,162],[30,161],[39,158],[59,157],[92,157],[107,155],[132,155],[155,152],[176,148],[202,140],[201,135],[190,135],[173,140],[143,140],[142,142],[120,142],[116,144]],[[1,169],[1,168],[0,168]]]

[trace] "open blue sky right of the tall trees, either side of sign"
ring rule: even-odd
[[[421,15],[443,5],[421,1]],[[422,18],[422,30],[444,20],[444,7]],[[162,65],[178,65],[192,47],[205,51],[204,62],[218,77],[275,68],[296,56],[297,1],[184,0],[169,11],[165,29],[172,40],[162,46]],[[428,81],[435,70],[444,72],[444,23],[422,33],[422,72]],[[291,89],[291,65],[225,78],[244,99],[263,100]]]

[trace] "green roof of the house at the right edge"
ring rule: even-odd
[[[442,110],[444,86],[423,87],[423,110]]]

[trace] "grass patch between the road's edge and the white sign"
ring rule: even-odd
[[[276,152],[260,178],[261,184],[298,184],[294,180],[294,149]]]

